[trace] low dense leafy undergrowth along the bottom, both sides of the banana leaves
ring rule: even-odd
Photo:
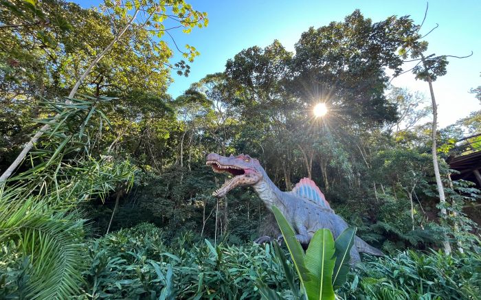
[[[214,245],[212,240],[199,240],[192,232],[167,244],[164,236],[164,231],[153,224],[143,223],[89,240],[85,259],[88,267],[82,273],[85,297],[260,299],[256,279],[262,279],[284,299],[293,297],[279,258],[269,244],[233,245],[223,241]],[[479,253],[403,251],[392,257],[364,259],[339,290],[341,299],[479,299]],[[27,265],[21,259],[14,261],[10,256],[4,262],[16,270],[3,273],[7,282],[25,281]],[[289,260],[287,264],[293,267]],[[11,295],[14,289],[8,286],[3,295]]]

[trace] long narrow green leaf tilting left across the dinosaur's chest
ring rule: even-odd
[[[295,232],[291,228],[289,222],[282,215],[282,212],[276,207],[272,206],[272,211],[276,217],[276,221],[279,224],[280,231],[284,237],[284,242],[286,242],[287,249],[291,253],[291,258],[294,262],[295,270],[298,271],[298,275],[302,281],[309,281],[309,270],[307,270],[304,262],[304,250],[301,244],[295,238]]]

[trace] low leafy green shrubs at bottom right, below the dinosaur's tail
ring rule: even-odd
[[[480,253],[399,252],[367,259],[344,299],[481,299]]]

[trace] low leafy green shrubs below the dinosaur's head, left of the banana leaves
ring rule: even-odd
[[[158,299],[162,292],[177,299],[256,299],[259,278],[289,297],[269,245],[215,246],[195,242],[189,232],[170,243],[163,237],[144,223],[91,240],[85,294],[92,299]]]

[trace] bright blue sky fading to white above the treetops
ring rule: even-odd
[[[82,6],[96,5],[98,0],[76,1]],[[191,64],[188,78],[173,75],[175,82],[168,89],[177,97],[209,73],[223,71],[225,62],[242,49],[258,45],[265,47],[278,39],[289,51],[300,34],[309,27],[327,25],[331,21],[342,21],[344,16],[359,8],[372,21],[381,21],[390,15],[410,15],[421,23],[425,12],[425,1],[189,1],[192,6],[208,12],[209,25],[193,30],[191,34],[175,33],[177,44],[190,44],[201,52]],[[481,85],[481,1],[436,0],[429,2],[427,19],[423,31],[428,32],[436,23],[437,30],[429,34],[429,54],[473,56],[462,60],[451,59],[447,75],[434,82],[434,92],[439,108],[439,124],[447,126],[457,119],[481,109],[469,89]],[[181,59],[176,56],[172,62]],[[414,80],[406,73],[392,84],[422,91],[429,95],[427,83]],[[427,102],[429,104],[429,102]]]

